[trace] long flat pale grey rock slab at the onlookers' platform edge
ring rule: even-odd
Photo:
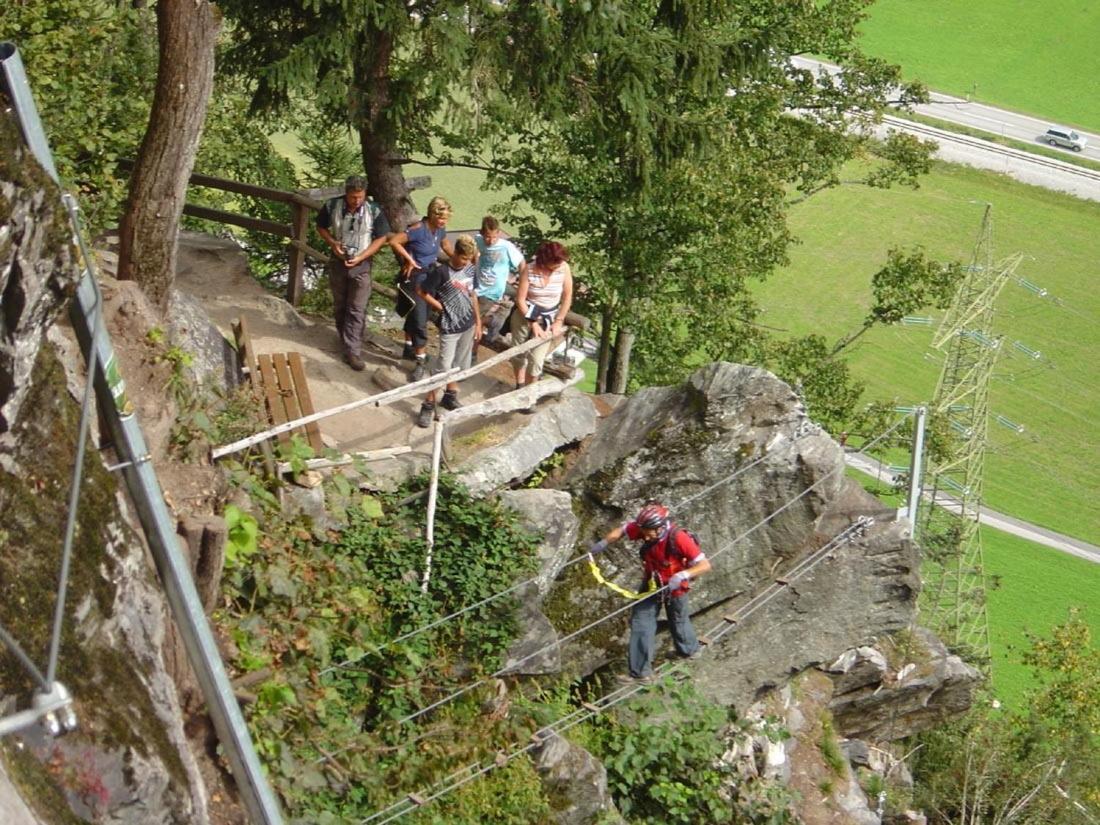
[[[530,424],[507,441],[464,461],[458,470],[459,480],[477,495],[526,479],[559,447],[588,437],[595,428],[592,399],[566,389],[559,402],[539,406]]]

